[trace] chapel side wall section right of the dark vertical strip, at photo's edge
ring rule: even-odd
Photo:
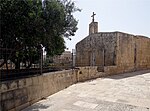
[[[150,38],[136,36],[136,70],[150,69]]]

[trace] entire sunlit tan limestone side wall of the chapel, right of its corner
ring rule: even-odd
[[[112,75],[150,69],[150,38],[117,32],[116,66],[104,72]]]

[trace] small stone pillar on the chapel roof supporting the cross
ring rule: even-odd
[[[98,22],[91,22],[89,24],[89,35],[98,32]]]

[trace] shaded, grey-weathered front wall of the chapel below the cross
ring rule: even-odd
[[[91,34],[76,45],[76,66],[116,64],[117,33]]]

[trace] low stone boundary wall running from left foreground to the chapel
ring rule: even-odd
[[[97,67],[80,67],[75,70],[2,82],[0,86],[2,111],[20,111],[72,84],[104,75],[97,71]]]

